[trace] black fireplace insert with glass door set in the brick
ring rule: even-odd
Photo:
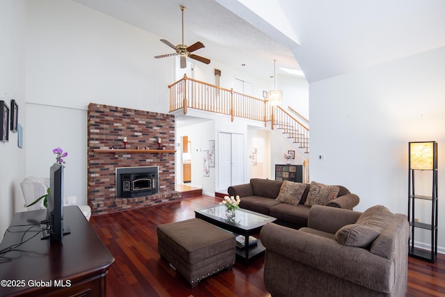
[[[116,168],[116,197],[134,198],[158,193],[158,167]]]

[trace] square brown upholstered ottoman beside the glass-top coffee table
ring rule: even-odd
[[[157,227],[158,251],[191,287],[235,263],[234,234],[199,218]]]

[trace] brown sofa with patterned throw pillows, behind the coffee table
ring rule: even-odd
[[[241,208],[273,216],[277,218],[275,221],[277,224],[296,229],[306,227],[311,207],[305,205],[305,202],[311,184],[303,186],[304,191],[298,204],[289,204],[276,200],[282,184],[282,181],[273,179],[252,178],[249,184],[230,186],[228,193],[231,196],[239,195],[241,198],[239,206]],[[359,203],[359,197],[350,193],[344,186],[338,186],[338,188],[337,198],[326,202],[325,205],[342,209],[353,209]]]

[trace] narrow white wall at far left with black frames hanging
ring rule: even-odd
[[[26,127],[25,4],[23,0],[0,1],[0,100],[9,107],[11,99],[17,101],[22,127]],[[17,139],[18,134],[9,131],[9,142],[0,143],[0,239],[10,225],[13,214],[24,210],[20,182],[25,177],[25,148],[17,146]]]

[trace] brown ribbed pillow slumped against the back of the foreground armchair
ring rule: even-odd
[[[369,248],[393,218],[394,214],[389,209],[375,205],[366,209],[355,224],[341,227],[335,233],[335,240],[344,246]]]

